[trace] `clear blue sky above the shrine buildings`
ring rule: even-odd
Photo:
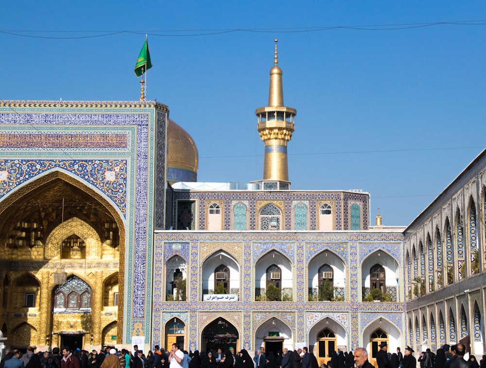
[[[248,183],[277,37],[292,189],[363,189],[408,225],[485,147],[485,19],[484,0],[3,1],[0,99],[138,100],[148,33],[147,99],[195,139],[198,181]],[[436,22],[465,23],[411,26]]]

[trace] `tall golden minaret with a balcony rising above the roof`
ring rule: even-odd
[[[258,132],[265,142],[263,180],[289,181],[287,142],[295,130],[297,110],[283,105],[282,69],[278,64],[277,38],[275,39],[275,66],[270,69],[268,106],[255,110],[258,117]]]

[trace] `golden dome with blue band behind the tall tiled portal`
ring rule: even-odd
[[[167,125],[167,142],[169,182],[197,182],[199,154],[196,143],[191,135],[172,119],[169,119]]]

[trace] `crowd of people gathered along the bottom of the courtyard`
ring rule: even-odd
[[[400,348],[397,352],[388,352],[386,342],[382,342],[379,348],[375,354],[378,368],[486,368],[486,355],[479,362],[474,355],[465,360],[466,347],[461,343],[445,344],[435,353],[426,349],[418,360],[409,346],[404,354]],[[146,355],[137,345],[133,353],[110,346],[99,353],[69,348],[62,351],[53,348],[52,352],[35,350],[35,346],[29,346],[23,354],[17,349],[5,351],[0,368],[374,368],[364,348],[357,348],[354,353],[339,349],[332,351],[330,359],[320,366],[307,347],[294,351],[284,348],[283,351],[268,353],[261,347],[253,357],[245,349],[235,351],[229,347],[227,350],[188,352],[180,350],[177,344],[173,344],[170,351],[160,350],[156,345],[154,351],[148,351]]]

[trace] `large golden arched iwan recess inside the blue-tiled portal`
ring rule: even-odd
[[[2,202],[0,326],[8,346],[116,342],[122,226],[103,198],[61,172]],[[55,284],[62,268],[66,280]]]

